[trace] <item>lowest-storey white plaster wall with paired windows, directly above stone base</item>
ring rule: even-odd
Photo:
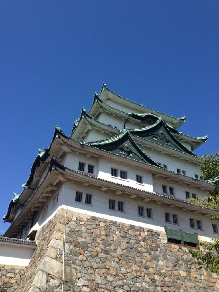
[[[82,202],[85,200],[86,193],[92,194],[91,205],[75,202],[75,192],[82,192]],[[65,196],[63,198],[63,204],[68,206],[68,209],[72,211],[85,213],[100,218],[106,218],[110,220],[115,220],[127,224],[138,225],[146,228],[152,228],[154,230],[164,230],[164,226],[168,228],[179,230],[182,229],[185,232],[199,234],[200,236],[205,236],[212,238],[213,228],[212,222],[206,216],[201,213],[193,213],[192,211],[182,211],[178,207],[170,208],[167,204],[156,204],[154,201],[143,202],[141,198],[136,197],[135,199],[129,198],[127,195],[115,195],[112,191],[106,190],[101,192],[95,186],[85,187],[83,185],[71,185],[70,183],[65,183]],[[118,201],[124,202],[124,211],[113,211],[109,210],[109,199],[116,200],[116,208]],[[144,218],[138,216],[138,206],[143,206],[145,208],[152,208],[152,217]],[[178,215],[179,225],[166,223],[165,222],[165,212]],[[190,227],[189,218],[195,220],[201,220],[203,230],[198,230]],[[219,222],[218,222],[219,223]],[[217,224],[218,224],[217,223]],[[210,240],[210,239],[209,239]]]

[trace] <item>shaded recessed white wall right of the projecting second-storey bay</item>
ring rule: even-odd
[[[186,184],[179,185],[173,180],[166,180],[165,178],[162,178],[162,177],[156,178],[153,176],[154,192],[162,194],[162,185],[167,186],[168,194],[169,194],[169,187],[173,187],[175,197],[180,199],[180,200],[184,200],[184,201],[187,200],[185,192],[190,192],[190,197],[192,197],[192,193],[196,194],[197,196],[199,196],[201,198],[204,198],[205,196],[208,195],[207,192],[205,192],[203,190],[201,191],[197,187],[188,187],[188,185],[186,185]]]

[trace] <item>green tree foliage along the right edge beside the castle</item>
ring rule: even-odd
[[[211,211],[215,211],[219,209],[219,152],[215,152],[212,155],[204,155],[199,158],[201,160],[201,164],[199,168],[202,171],[205,180],[214,184],[215,188],[212,192],[209,192],[209,197],[204,197],[201,199],[197,197],[197,199],[188,199],[188,201],[192,202],[195,206],[199,207],[199,209],[208,209]],[[219,214],[216,214],[209,218],[211,220],[219,219]],[[196,258],[196,264],[201,266],[206,266],[206,270],[210,272],[214,272],[219,275],[219,239],[213,238],[213,243],[203,243],[197,239],[199,244],[205,248],[205,252],[203,251],[195,251],[189,246],[186,246],[189,252],[192,254],[194,258]]]

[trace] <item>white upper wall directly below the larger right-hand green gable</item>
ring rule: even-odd
[[[168,170],[177,172],[176,169],[179,168],[181,170],[181,173],[182,173],[182,170],[185,170],[186,175],[191,176],[191,177],[195,177],[195,174],[198,174],[200,178],[200,175],[202,175],[201,170],[198,168],[197,164],[194,162],[188,162],[184,159],[179,159],[178,157],[170,156],[166,153],[161,153],[157,150],[151,150],[148,147],[141,147],[141,148],[154,161],[160,162],[162,166],[163,164],[166,164]],[[180,152],[178,153],[180,154]]]

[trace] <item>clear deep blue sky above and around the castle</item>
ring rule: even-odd
[[[218,1],[1,1],[1,217],[102,82],[218,150]],[[0,234],[8,224],[0,220]]]

